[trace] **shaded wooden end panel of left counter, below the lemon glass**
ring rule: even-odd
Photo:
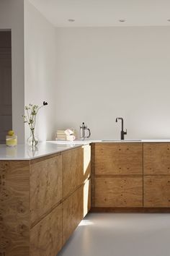
[[[0,255],[29,254],[30,161],[0,161]]]

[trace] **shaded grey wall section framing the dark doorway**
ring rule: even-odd
[[[0,30],[12,30],[12,129],[24,142],[24,0],[0,1]]]

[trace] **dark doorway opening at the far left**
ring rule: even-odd
[[[11,31],[0,31],[0,142],[12,129],[12,40]]]

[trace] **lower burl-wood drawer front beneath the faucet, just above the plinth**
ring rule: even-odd
[[[143,207],[143,177],[98,177],[96,207]]]

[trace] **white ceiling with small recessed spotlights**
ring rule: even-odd
[[[170,0],[30,0],[55,27],[170,26]],[[74,19],[75,22],[68,22]],[[125,19],[126,22],[119,22]]]

